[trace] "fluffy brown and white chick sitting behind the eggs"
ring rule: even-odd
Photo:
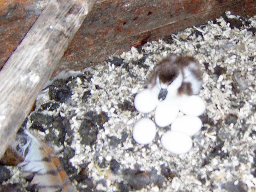
[[[202,86],[202,72],[192,56],[170,56],[161,60],[154,68],[149,88],[157,87],[158,100],[182,95],[198,94]]]

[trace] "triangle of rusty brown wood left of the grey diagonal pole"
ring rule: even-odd
[[[50,0],[0,0],[0,68]]]

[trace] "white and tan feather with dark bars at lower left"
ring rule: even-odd
[[[54,150],[47,144],[39,141],[32,134],[25,131],[27,144],[22,147],[23,154],[26,150],[24,161],[18,166],[22,168],[24,176],[34,174],[31,185],[38,187],[38,192],[75,192],[68,175],[61,168],[60,160],[53,156]]]

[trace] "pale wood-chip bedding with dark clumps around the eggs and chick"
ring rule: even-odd
[[[55,79],[38,96],[24,128],[55,146],[78,191],[255,192],[255,35],[256,16],[226,12],[207,24],[110,56],[98,66]],[[134,96],[170,53],[194,56],[204,71],[203,127],[190,152],[179,156],[160,144],[170,127],[157,128],[146,146],[131,136],[138,119],[153,118],[153,113],[134,109]],[[18,168],[0,169],[2,185],[33,191]]]

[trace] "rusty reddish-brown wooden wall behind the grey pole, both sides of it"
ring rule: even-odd
[[[4,3],[5,2],[5,3]],[[0,0],[0,67],[48,0]],[[83,69],[110,54],[218,18],[224,11],[252,16],[255,0],[98,0],[70,42],[55,74]]]

